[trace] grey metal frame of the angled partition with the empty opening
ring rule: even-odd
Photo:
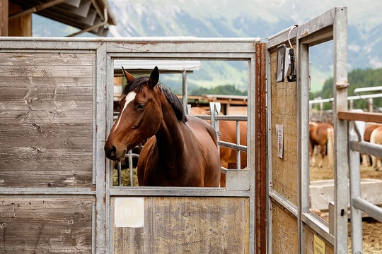
[[[290,31],[290,32],[289,32]],[[270,37],[267,42],[267,58],[270,59],[270,49],[274,49],[279,44],[291,40],[296,47],[296,70],[297,70],[297,99],[298,99],[298,204],[295,205],[282,194],[277,193],[268,186],[268,216],[272,220],[271,200],[277,202],[294,215],[298,221],[299,253],[305,251],[305,238],[303,228],[307,226],[325,241],[334,247],[335,253],[347,253],[347,172],[349,164],[347,160],[347,121],[341,121],[337,117],[337,112],[347,109],[347,7],[336,7],[323,13],[317,18],[304,23],[296,28],[288,28],[277,35]],[[322,222],[316,214],[309,211],[309,149],[308,149],[308,119],[309,119],[309,47],[328,42],[334,42],[334,84],[335,101],[333,108],[333,121],[335,125],[335,207],[334,207],[334,232],[330,234],[329,225]],[[267,90],[271,89],[270,61],[267,63]],[[270,92],[267,100],[270,102]],[[271,111],[271,104],[268,103],[268,114]],[[268,126],[272,124],[268,115]],[[272,176],[272,128],[268,128],[268,176]],[[345,211],[345,212],[344,212]],[[272,253],[272,228],[268,232],[268,252]]]

